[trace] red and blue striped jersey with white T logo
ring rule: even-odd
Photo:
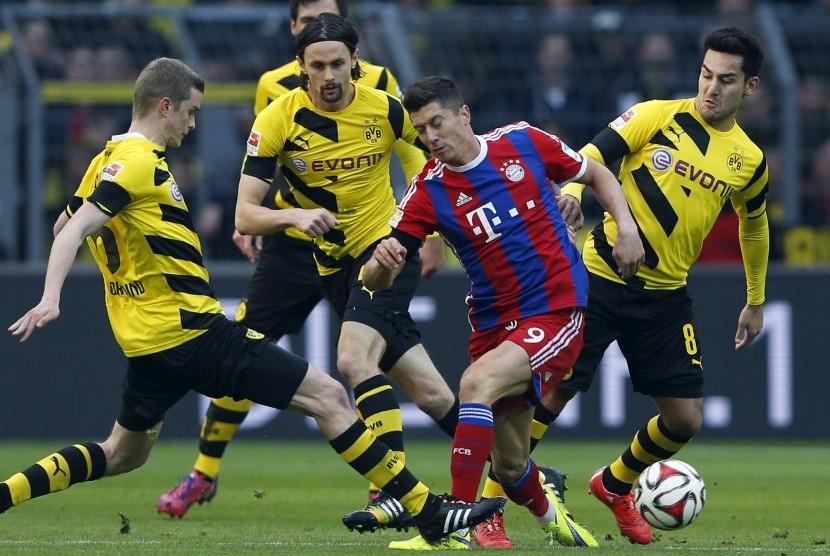
[[[586,307],[587,274],[551,183],[579,179],[587,160],[526,122],[477,139],[481,152],[462,167],[432,158],[390,224],[419,240],[437,230],[450,244],[470,279],[473,330]]]

